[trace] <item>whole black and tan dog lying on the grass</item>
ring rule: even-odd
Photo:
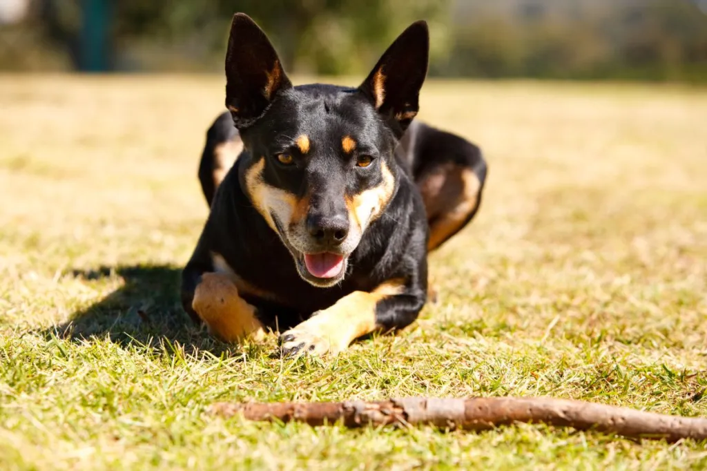
[[[417,318],[428,251],[472,219],[486,178],[476,146],[412,122],[428,42],[420,21],[358,88],[292,86],[262,30],[234,16],[229,111],[199,168],[211,213],[182,274],[195,321],[325,354]]]

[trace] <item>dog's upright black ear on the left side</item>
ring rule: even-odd
[[[235,127],[253,124],[278,93],[291,86],[263,30],[250,16],[236,13],[226,52],[226,107]]]

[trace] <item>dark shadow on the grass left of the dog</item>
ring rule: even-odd
[[[182,310],[179,297],[181,269],[170,265],[133,265],[74,270],[74,277],[100,280],[117,274],[124,285],[88,308],[78,310],[42,335],[84,342],[108,338],[127,345],[150,347],[181,344],[185,353],[210,351],[216,356],[233,346],[218,342]],[[169,349],[165,349],[169,350]]]

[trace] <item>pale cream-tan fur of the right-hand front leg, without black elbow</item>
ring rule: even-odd
[[[304,343],[303,351],[312,354],[337,354],[358,337],[375,332],[380,325],[375,321],[375,309],[380,301],[404,292],[404,280],[392,279],[370,292],[354,291],[339,299],[334,306],[312,315],[311,318],[282,334],[294,338],[283,348]],[[313,348],[310,350],[309,347]]]

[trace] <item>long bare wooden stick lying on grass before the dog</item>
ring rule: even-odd
[[[472,397],[439,399],[408,397],[365,402],[218,402],[209,412],[223,417],[243,414],[255,421],[300,421],[312,426],[411,426],[431,424],[443,429],[487,430],[520,422],[594,429],[630,438],[705,440],[707,419],[641,412],[626,407],[552,397]]]

